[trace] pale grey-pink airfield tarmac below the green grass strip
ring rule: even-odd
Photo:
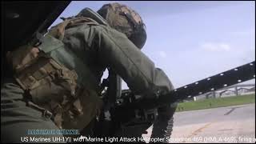
[[[142,137],[148,142],[148,134]],[[254,143],[255,103],[174,114],[170,143]]]

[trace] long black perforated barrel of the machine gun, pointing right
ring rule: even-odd
[[[179,87],[178,89],[170,91],[168,94],[159,96],[159,98],[141,99],[138,100],[138,102],[130,102],[128,107],[151,109],[172,102],[178,102],[186,98],[192,98],[200,94],[206,94],[207,92],[219,90],[223,87],[232,86],[253,78],[255,78],[255,61],[215,74],[198,82]]]

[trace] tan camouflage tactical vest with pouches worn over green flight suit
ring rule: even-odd
[[[67,18],[51,28],[38,46],[39,53],[28,45],[8,56],[15,70],[14,78],[36,106],[54,114],[54,122],[61,129],[81,130],[98,116],[102,107],[94,74],[62,42],[68,27],[107,26],[100,15],[87,10],[86,17]]]

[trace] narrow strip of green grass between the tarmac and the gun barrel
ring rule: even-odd
[[[243,105],[248,103],[255,103],[255,94],[239,95],[228,98],[209,98],[195,102],[180,102],[176,111],[201,110],[222,106]]]

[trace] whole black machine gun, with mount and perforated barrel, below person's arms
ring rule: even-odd
[[[115,93],[120,91],[121,83],[120,77],[110,72],[109,77],[109,90],[114,90],[114,93],[109,91],[106,97],[111,97],[111,106],[108,107],[107,126],[103,128],[106,134],[101,131],[97,136],[117,136],[118,133],[122,136],[130,136],[134,134],[134,127],[139,127],[137,134],[143,134],[145,130],[153,124],[156,118],[156,109],[159,106],[166,105],[172,102],[180,102],[186,98],[192,98],[200,94],[206,94],[213,90],[219,90],[226,86],[245,82],[255,78],[255,61],[249,62],[245,65],[238,66],[231,70],[226,70],[222,73],[215,74],[209,78],[204,78],[198,82],[190,83],[175,90],[170,91],[168,94],[160,95],[154,99],[143,99],[140,95],[135,95],[130,90],[122,90],[122,94]],[[115,101],[114,101],[115,98]],[[104,114],[102,115],[101,122],[106,122]],[[101,123],[98,122],[98,123]],[[102,126],[101,129],[102,130]],[[118,130],[119,129],[119,130]],[[98,134],[98,130],[95,130]],[[124,133],[126,132],[126,134]]]

